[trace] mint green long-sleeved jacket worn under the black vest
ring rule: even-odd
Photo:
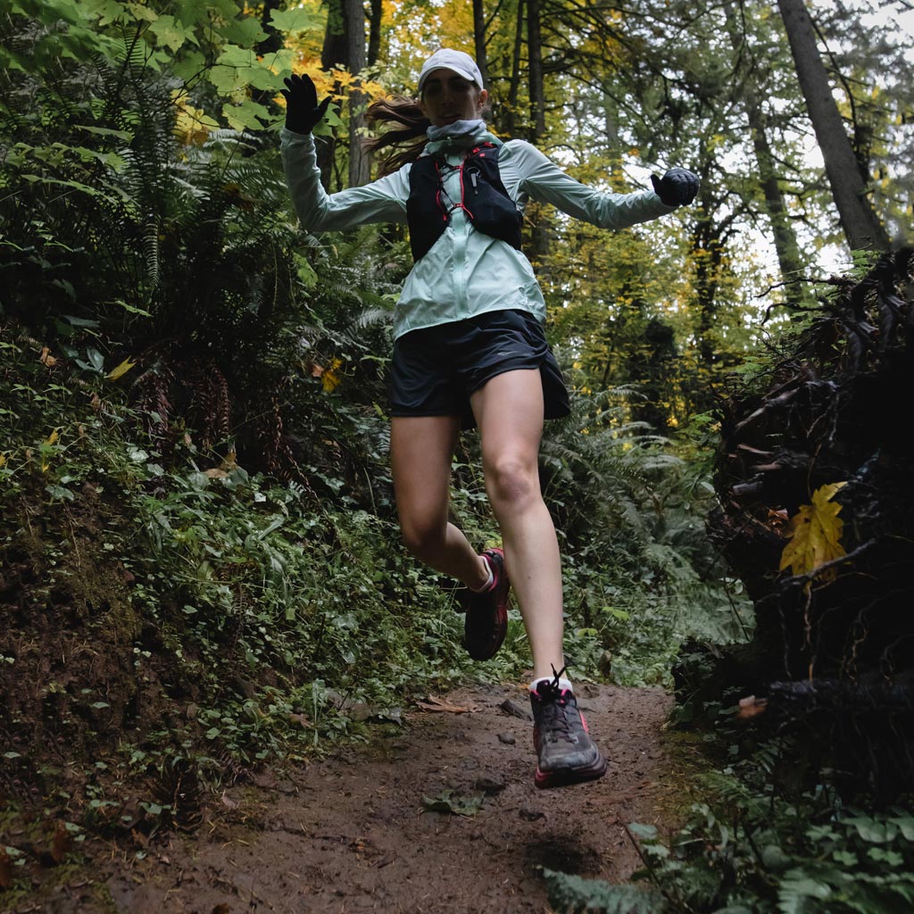
[[[411,163],[371,184],[328,195],[321,185],[312,136],[285,128],[280,136],[286,180],[303,228],[341,231],[369,222],[406,223]],[[501,145],[502,184],[521,211],[533,199],[599,228],[628,228],[675,209],[653,190],[611,194],[582,185],[523,140],[502,143],[491,133],[480,133],[473,144],[483,140]],[[467,148],[442,140],[427,144],[425,154],[443,154],[451,165],[460,165]],[[460,201],[460,172],[444,179],[444,189],[452,201]],[[394,313],[394,335],[507,309],[528,311],[540,321],[546,318],[546,303],[530,261],[507,242],[476,231],[457,208],[441,238],[409,272]]]

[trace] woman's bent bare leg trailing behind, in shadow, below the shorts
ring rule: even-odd
[[[454,416],[395,416],[390,462],[403,540],[433,569],[473,590],[488,578],[485,559],[448,523],[451,462],[460,420]]]

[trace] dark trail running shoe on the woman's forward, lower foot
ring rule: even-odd
[[[570,689],[558,685],[560,675],[556,673],[551,682],[542,680],[530,693],[537,750],[534,783],[540,788],[596,781],[606,773],[606,760],[590,739],[577,699]]]

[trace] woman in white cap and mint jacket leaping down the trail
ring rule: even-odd
[[[406,546],[467,588],[464,643],[476,660],[504,641],[514,590],[533,656],[535,783],[600,778],[606,761],[565,675],[558,539],[539,487],[544,420],[567,415],[569,398],[543,331],[543,294],[520,250],[523,211],[534,199],[600,228],[628,228],[691,203],[697,175],[674,168],[654,176],[654,190],[633,194],[579,184],[530,143],[489,133],[479,68],[468,54],[442,48],[422,66],[418,100],[376,102],[368,111],[399,125],[373,144],[394,150],[383,176],[328,195],[311,132],[330,99],[318,105],[307,76],[285,82],[282,156],[303,228],[409,226],[415,262],[394,316],[390,392]],[[504,546],[481,554],[448,521],[458,434],[473,427]]]

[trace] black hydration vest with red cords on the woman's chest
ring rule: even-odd
[[[461,172],[460,200],[452,200],[444,192],[443,175],[452,171]],[[474,228],[520,250],[523,216],[498,174],[498,146],[494,143],[474,146],[461,165],[448,165],[434,155],[424,155],[412,164],[406,215],[413,260],[424,257],[441,238],[454,209],[462,209]]]

